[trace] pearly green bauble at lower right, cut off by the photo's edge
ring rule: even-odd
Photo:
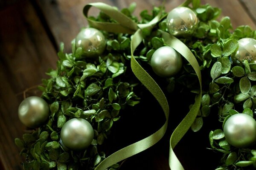
[[[234,147],[247,147],[256,142],[256,121],[244,113],[234,114],[224,124],[224,135]]]

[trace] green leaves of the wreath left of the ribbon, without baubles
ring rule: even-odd
[[[137,20],[131,15],[133,10],[131,4],[122,12]],[[103,13],[94,19],[114,22]],[[139,89],[138,82],[129,66],[130,35],[103,34],[107,39],[106,50],[94,59],[82,56],[82,49],[76,48],[74,41],[70,53],[61,44],[57,68],[49,69],[49,78],[43,79],[43,85],[38,87],[41,97],[49,103],[49,120],[32,133],[25,133],[23,139],[15,139],[25,158],[25,170],[94,169],[106,157],[101,145],[111,127],[124,109],[140,102],[134,92],[134,88]],[[93,142],[84,150],[72,151],[61,145],[61,127],[72,118],[86,119],[93,126]],[[118,167],[114,164],[108,169]]]

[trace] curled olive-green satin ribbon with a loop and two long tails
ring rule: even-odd
[[[100,9],[105,14],[109,15],[112,19],[116,20],[117,23],[105,23],[105,22],[98,22],[95,20],[91,20],[87,17],[88,11],[90,7],[96,7]],[[122,14],[121,12],[117,11],[116,8],[109,6],[105,3],[90,3],[84,7],[84,16],[87,18],[88,23],[90,26],[94,28],[98,28],[100,30],[114,32],[114,33],[127,33],[133,34],[131,36],[131,68],[134,75],[142,82],[142,84],[151,92],[151,94],[157,99],[158,103],[160,104],[163,112],[165,113],[166,122],[164,125],[157,130],[155,133],[151,134],[150,136],[142,139],[134,144],[131,144],[127,147],[122,148],[121,150],[116,151],[115,153],[108,156],[105,160],[103,160],[95,170],[105,170],[111,165],[122,161],[130,156],[133,156],[137,153],[142,152],[143,150],[148,149],[149,147],[156,144],[162,137],[164,136],[167,125],[168,125],[168,118],[169,118],[169,105],[161,88],[157,85],[154,79],[140,66],[140,64],[134,58],[133,52],[137,48],[138,45],[143,40],[142,36],[142,29],[148,28],[152,29],[156,23],[158,23],[161,18],[161,12],[153,19],[151,22],[147,24],[137,24],[133,20],[131,20],[126,15]],[[182,164],[177,159],[173,148],[176,144],[180,141],[180,139],[185,135],[189,127],[194,122],[197,113],[200,109],[201,105],[201,72],[198,65],[198,62],[189,48],[183,44],[180,40],[173,37],[167,32],[161,31],[162,37],[164,42],[178,51],[183,57],[187,59],[187,61],[192,65],[195,70],[195,73],[198,76],[199,84],[200,84],[200,92],[195,97],[195,103],[189,113],[185,116],[185,118],[180,122],[180,124],[176,127],[172,136],[170,138],[170,152],[169,152],[169,166],[172,170],[184,170]]]

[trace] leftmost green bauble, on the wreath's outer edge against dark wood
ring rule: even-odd
[[[20,121],[27,127],[41,126],[49,117],[49,105],[38,96],[24,99],[18,108]]]

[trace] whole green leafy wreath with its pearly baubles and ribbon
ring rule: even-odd
[[[88,16],[91,7],[100,10],[97,17]],[[216,125],[207,140],[212,152],[222,153],[216,170],[256,168],[256,31],[233,29],[229,17],[217,21],[220,9],[200,0],[186,0],[170,12],[154,7],[142,11],[140,20],[132,15],[135,7],[84,7],[89,27],[72,41],[72,52],[61,44],[57,69],[38,86],[41,97],[20,103],[20,121],[31,129],[15,139],[23,168],[115,170],[178,120],[166,147],[170,168],[182,170],[174,147],[210,115]],[[182,108],[173,109],[181,99]],[[106,156],[111,130],[138,108],[156,111],[164,121],[148,137]]]

